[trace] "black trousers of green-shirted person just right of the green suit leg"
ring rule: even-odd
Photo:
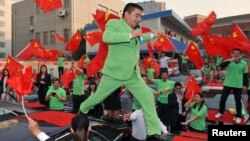
[[[168,110],[168,104],[161,103],[157,101],[157,112],[158,116],[161,120],[161,122],[166,125],[167,127],[169,126],[169,110]]]

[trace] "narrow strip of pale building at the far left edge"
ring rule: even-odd
[[[0,0],[0,59],[11,54],[11,0]]]

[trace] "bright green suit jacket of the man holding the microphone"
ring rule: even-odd
[[[138,38],[130,39],[133,31],[124,19],[109,20],[103,33],[103,41],[108,44],[108,55],[102,73],[118,80],[128,80],[136,70],[140,76],[138,66],[140,48]],[[150,34],[144,34],[146,42]]]

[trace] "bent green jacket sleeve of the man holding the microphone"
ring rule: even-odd
[[[102,39],[107,44],[130,42],[130,33],[121,33],[118,31],[117,20],[109,20]]]

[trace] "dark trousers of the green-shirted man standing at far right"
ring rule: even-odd
[[[226,106],[226,100],[228,98],[228,95],[231,93],[231,91],[233,91],[234,94],[234,100],[236,103],[236,116],[237,117],[241,117],[241,93],[242,93],[242,89],[241,88],[233,88],[233,87],[228,87],[228,86],[224,86],[223,87],[223,91],[222,91],[222,96],[220,99],[220,109],[219,112],[220,113],[224,113],[225,112],[225,106]]]

